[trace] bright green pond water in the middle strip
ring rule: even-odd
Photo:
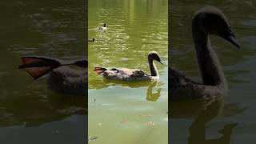
[[[166,0],[90,0],[89,137],[91,143],[167,143]],[[108,30],[99,32],[106,22]],[[147,54],[158,51],[166,64],[157,64],[160,82],[109,82],[94,66],[140,68],[150,72]]]

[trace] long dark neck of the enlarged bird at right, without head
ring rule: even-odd
[[[209,34],[193,26],[193,38],[203,83],[207,86],[222,86],[228,90],[222,66],[210,45]]]

